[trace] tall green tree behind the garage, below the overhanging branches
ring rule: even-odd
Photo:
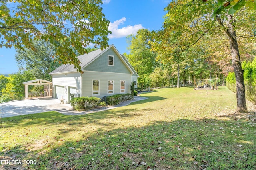
[[[33,41],[33,46],[35,50],[17,50],[15,59],[18,66],[21,70],[30,70],[36,78],[51,81],[49,73],[60,66],[58,57],[52,58],[55,55],[54,46],[44,40]]]

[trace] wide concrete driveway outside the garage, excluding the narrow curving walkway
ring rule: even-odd
[[[60,100],[54,98],[16,100],[0,104],[0,117],[12,117],[47,111],[70,111],[71,109],[70,104],[60,104]]]

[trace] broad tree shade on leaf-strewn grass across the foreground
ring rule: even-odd
[[[105,114],[114,115],[102,112],[88,119],[98,121]],[[26,144],[17,145],[4,155],[36,160],[29,168],[39,170],[256,169],[253,123],[249,119],[152,121],[146,126],[96,129],[89,135],[84,132],[79,140],[56,140],[36,151],[23,150]]]

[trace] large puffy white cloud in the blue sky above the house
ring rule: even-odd
[[[126,21],[126,18],[123,17],[120,20],[116,20],[113,23],[110,22],[108,26],[108,30],[112,32],[112,34],[108,35],[108,38],[121,38],[126,37],[130,34],[136,34],[139,29],[144,29],[144,27],[141,24],[136,24],[134,26],[128,25],[126,27],[122,27],[118,29],[118,26],[120,24],[123,24]]]

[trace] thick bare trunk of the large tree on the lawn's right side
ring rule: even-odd
[[[245,86],[244,86],[244,70],[241,66],[240,54],[238,49],[238,43],[236,40],[236,31],[233,26],[233,18],[232,15],[227,15],[228,18],[228,27],[224,28],[224,25],[217,15],[216,19],[218,23],[224,28],[225,33],[228,35],[231,56],[232,56],[232,64],[236,77],[236,112],[239,113],[247,113],[246,107],[246,99],[245,99]]]

